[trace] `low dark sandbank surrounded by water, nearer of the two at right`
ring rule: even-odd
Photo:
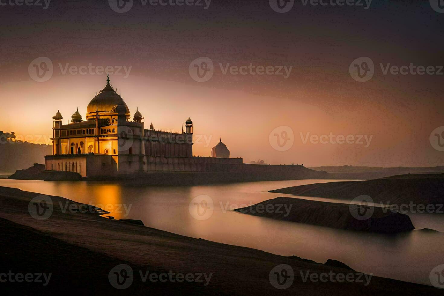
[[[266,211],[267,208],[281,210]],[[346,230],[399,233],[415,229],[407,215],[389,209],[383,210],[379,207],[365,206],[362,207],[362,213],[359,213],[360,209],[357,205],[309,201],[291,197],[277,197],[246,208],[235,209],[235,211],[276,220]],[[367,212],[368,216],[365,215]]]

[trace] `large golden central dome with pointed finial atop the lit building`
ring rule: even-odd
[[[125,115],[130,117],[130,109],[128,108],[125,101],[123,101],[122,97],[117,94],[114,88],[110,85],[109,78],[107,80],[107,85],[103,90],[99,91],[97,95],[95,95],[94,99],[89,102],[87,107],[87,118],[95,117],[95,112],[98,111],[99,115],[103,115],[104,113],[115,113],[115,107],[118,105],[124,105],[127,108],[127,112]]]

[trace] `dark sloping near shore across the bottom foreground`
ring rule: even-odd
[[[60,291],[97,295],[146,295],[162,292],[217,294],[303,294],[303,295],[375,295],[437,294],[431,286],[411,284],[373,276],[364,282],[304,282],[301,272],[349,273],[342,264],[317,264],[298,257],[283,257],[255,249],[224,245],[183,237],[149,227],[110,220],[97,213],[62,211],[62,197],[51,197],[53,211],[46,220],[36,220],[28,205],[38,193],[0,187],[0,257],[3,270],[22,273],[52,273],[47,286],[41,283],[1,283],[7,294],[51,294]],[[61,204],[60,204],[60,203]],[[62,205],[62,207],[60,206]],[[334,259],[334,258],[333,258]],[[334,261],[333,261],[334,262]],[[347,264],[347,262],[344,262]],[[128,264],[134,272],[133,282],[117,290],[108,281],[111,268]],[[279,264],[294,270],[293,284],[277,290],[270,284],[270,273]],[[332,266],[333,265],[333,266]],[[353,266],[351,266],[353,268]],[[209,284],[202,282],[143,282],[139,272],[174,272],[212,274]],[[359,273],[359,272],[357,272]]]

